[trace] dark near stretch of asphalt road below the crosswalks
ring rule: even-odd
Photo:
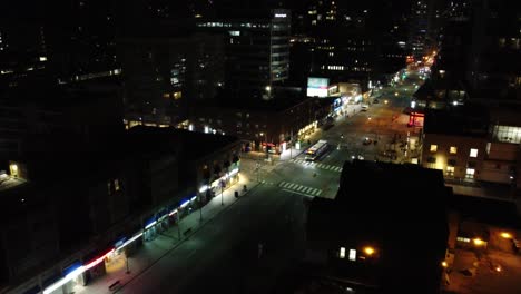
[[[302,196],[260,185],[119,293],[266,293],[303,254],[304,212]]]

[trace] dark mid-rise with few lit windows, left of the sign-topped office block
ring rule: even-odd
[[[175,126],[187,107],[210,99],[224,84],[222,38],[207,33],[118,40],[127,126]]]

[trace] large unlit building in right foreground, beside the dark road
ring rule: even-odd
[[[379,293],[436,293],[451,195],[442,173],[354,160],[344,164],[340,184],[335,199],[314,198],[308,214],[311,247],[330,252],[326,275],[377,285]],[[364,244],[381,254],[372,263],[332,256],[341,246],[360,254]]]

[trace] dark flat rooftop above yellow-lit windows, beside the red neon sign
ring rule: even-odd
[[[481,105],[464,106],[443,110],[427,109],[425,134],[445,134],[468,137],[485,137],[489,130],[489,111]]]

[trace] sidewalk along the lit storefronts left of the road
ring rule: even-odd
[[[243,190],[243,186],[247,186],[247,190]],[[151,267],[165,255],[180,246],[187,238],[197,233],[205,224],[209,223],[220,213],[225,212],[237,200],[240,200],[243,196],[249,193],[249,190],[259,185],[250,180],[247,175],[239,173],[239,182],[234,186],[227,188],[222,195],[216,195],[207,205],[203,207],[203,220],[200,220],[199,209],[193,210],[191,214],[187,215],[179,222],[179,228],[177,225],[170,226],[163,233],[158,233],[157,237],[153,241],[142,241],[141,247],[139,247],[130,257],[128,257],[128,270],[127,273],[127,261],[124,254],[120,254],[110,266],[107,266],[107,273],[104,276],[96,278],[90,282],[87,286],[76,286],[73,293],[110,293],[109,286],[119,281],[121,286],[130,283],[135,277]],[[235,198],[234,193],[239,193],[239,197]],[[180,232],[180,239],[178,237]]]

